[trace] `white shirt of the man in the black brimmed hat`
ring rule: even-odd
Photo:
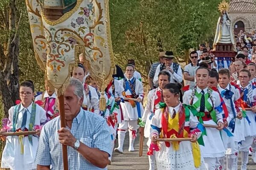
[[[160,66],[161,66],[161,64],[157,65],[157,70],[156,70],[156,73],[155,73],[154,79],[153,79],[153,82],[154,82],[154,84],[156,84],[156,85],[158,85],[158,74],[160,73]],[[172,70],[173,70],[173,63],[172,63],[172,65],[171,65],[171,68],[172,68]],[[177,70],[177,73],[175,73],[174,71],[173,71],[173,73],[171,73],[169,70],[166,70],[166,69],[165,69],[165,71],[168,71],[169,74],[171,75],[170,82],[172,82],[172,83],[175,83],[175,81],[176,81],[176,82],[179,82],[179,83],[182,82],[182,80],[183,80],[183,75],[182,75],[182,70],[181,70],[180,65],[179,65],[179,68],[178,68],[178,70]]]

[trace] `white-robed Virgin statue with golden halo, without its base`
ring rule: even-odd
[[[236,41],[233,35],[233,28],[227,13],[229,5],[227,2],[223,1],[219,4],[218,8],[221,12],[221,16],[218,19],[213,46],[216,47],[217,43],[235,45]]]

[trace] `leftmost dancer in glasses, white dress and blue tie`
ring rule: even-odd
[[[38,131],[47,121],[43,108],[32,102],[34,85],[30,81],[20,84],[20,99],[18,105],[9,109],[9,120],[1,131]],[[38,136],[7,136],[3,150],[1,167],[11,170],[36,169],[35,154],[38,147]]]

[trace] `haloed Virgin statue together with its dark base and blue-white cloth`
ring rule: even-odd
[[[232,59],[236,56],[236,40],[233,34],[233,25],[228,15],[229,4],[223,0],[218,10],[221,16],[218,19],[213,53],[217,57],[218,69],[229,68]]]

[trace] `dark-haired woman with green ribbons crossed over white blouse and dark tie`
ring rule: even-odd
[[[217,158],[225,154],[224,144],[221,140],[219,130],[224,127],[222,118],[221,99],[216,91],[207,87],[209,81],[209,70],[199,67],[195,74],[196,83],[194,89],[184,93],[183,102],[192,105],[197,110],[195,115],[200,123],[217,125],[218,128],[206,127],[202,138],[198,142],[207,170],[215,170]],[[207,134],[207,135],[206,135]]]

